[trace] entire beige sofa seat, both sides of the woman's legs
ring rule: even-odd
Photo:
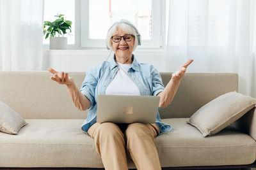
[[[188,118],[169,118],[173,131],[156,138],[161,166],[218,166],[250,164],[256,142],[250,136],[223,129],[202,137]],[[103,167],[93,139],[81,131],[82,119],[26,119],[17,136],[0,133],[0,167]],[[129,167],[134,168],[131,159]]]

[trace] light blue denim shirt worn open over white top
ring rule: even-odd
[[[91,103],[86,120],[82,125],[82,130],[87,134],[91,125],[97,122],[97,97],[100,94],[106,94],[106,89],[119,70],[115,55],[110,61],[104,61],[86,73],[80,91]],[[162,78],[154,66],[150,64],[139,63],[132,55],[132,66],[128,70],[130,78],[138,86],[141,96],[157,96],[164,90]],[[159,126],[159,134],[170,132],[172,126],[161,122],[159,112],[157,111],[156,124]]]

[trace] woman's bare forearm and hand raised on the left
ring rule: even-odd
[[[54,76],[51,76],[51,80],[56,81],[59,84],[66,85],[68,89],[68,94],[71,97],[74,105],[79,110],[86,110],[90,107],[91,103],[87,97],[85,97],[79,89],[77,89],[76,84],[74,80],[68,76],[68,73],[64,72],[58,72],[55,71],[52,68],[47,69],[49,72],[54,74]]]

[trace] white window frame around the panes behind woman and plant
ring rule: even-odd
[[[89,0],[75,1],[75,43],[68,50],[106,49],[106,39],[89,39]],[[158,12],[156,12],[158,11]],[[141,39],[139,49],[164,50],[166,48],[166,1],[152,0],[152,39]],[[49,44],[44,44],[49,49]]]

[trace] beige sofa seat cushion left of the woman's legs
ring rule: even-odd
[[[0,132],[0,167],[103,167],[83,119],[26,119],[17,136]]]

